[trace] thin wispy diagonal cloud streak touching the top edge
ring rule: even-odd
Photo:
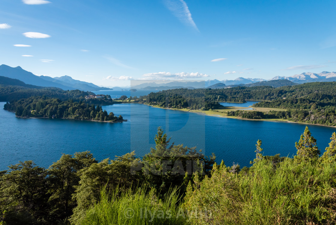
[[[183,0],[165,0],[165,5],[167,8],[173,13],[175,17],[177,17],[182,23],[184,23],[187,26],[190,26],[194,28],[195,30],[198,30],[191,13],[189,11],[189,8],[185,1]]]

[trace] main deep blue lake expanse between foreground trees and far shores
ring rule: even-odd
[[[1,108],[4,102],[0,102]],[[98,160],[135,151],[138,157],[155,146],[157,127],[166,130],[175,144],[214,152],[217,161],[249,166],[255,158],[255,144],[262,140],[264,155],[292,156],[295,141],[306,125],[296,123],[249,121],[204,116],[190,112],[150,107],[142,104],[103,106],[122,115],[127,122],[101,123],[62,119],[16,118],[0,109],[0,170],[18,161],[33,160],[48,167],[61,153],[89,150]],[[308,125],[323,153],[336,131],[334,127]]]

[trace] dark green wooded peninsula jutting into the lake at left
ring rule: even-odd
[[[74,102],[72,99],[61,101],[58,98],[30,97],[6,103],[4,109],[14,111],[17,117],[47,117],[74,120],[97,121],[123,121],[122,116],[114,116],[101,106],[95,107],[82,101]]]

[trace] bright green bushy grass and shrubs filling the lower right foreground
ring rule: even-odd
[[[187,193],[189,210],[207,208],[195,224],[336,224],[336,163],[261,160],[247,175],[215,169]]]

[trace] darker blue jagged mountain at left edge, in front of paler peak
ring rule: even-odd
[[[73,90],[74,88],[70,86],[65,86],[57,84],[51,81],[46,81],[39,76],[34,75],[31,72],[28,72],[21,67],[10,67],[7,65],[0,65],[0,76],[6,76],[13,79],[18,79],[23,81],[26,84],[42,86],[42,87],[57,87],[63,90]]]

